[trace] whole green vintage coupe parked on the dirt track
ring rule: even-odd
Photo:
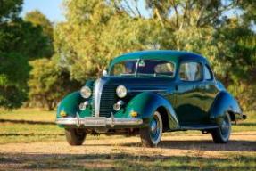
[[[154,147],[164,132],[200,130],[228,142],[231,122],[246,118],[199,54],[142,51],[123,54],[103,77],[88,80],[60,102],[56,123],[70,145],[87,134],[140,134]]]

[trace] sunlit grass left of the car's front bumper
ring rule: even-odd
[[[54,111],[37,109],[0,110],[0,120],[9,120],[0,122],[0,143],[62,141],[64,140],[63,130],[54,125],[54,118]],[[12,120],[16,122],[12,122]],[[24,121],[32,122],[26,123]],[[49,124],[33,124],[33,121],[49,122]]]

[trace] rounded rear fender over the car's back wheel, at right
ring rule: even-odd
[[[235,114],[235,120],[241,119],[242,110],[235,98],[226,91],[221,91],[215,98],[210,110],[211,121],[220,124],[227,112]]]

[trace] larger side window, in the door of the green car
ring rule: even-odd
[[[179,69],[179,78],[183,81],[202,80],[202,64],[194,61],[181,63]]]

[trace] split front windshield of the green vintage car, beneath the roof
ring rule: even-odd
[[[158,60],[130,60],[120,61],[111,68],[111,76],[123,75],[161,75],[174,76],[174,64],[169,61]]]

